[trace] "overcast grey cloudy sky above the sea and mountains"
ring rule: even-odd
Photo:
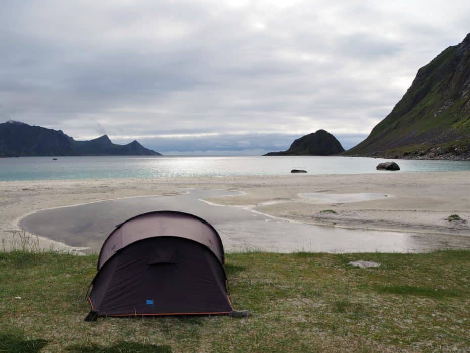
[[[470,2],[2,0],[0,122],[166,155],[348,149],[470,31]]]

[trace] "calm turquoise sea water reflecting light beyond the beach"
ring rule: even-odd
[[[319,156],[0,158],[0,180],[375,173],[379,158]],[[470,170],[470,161],[397,160],[402,172]]]

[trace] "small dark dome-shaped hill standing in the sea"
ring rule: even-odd
[[[295,140],[287,151],[269,152],[265,156],[329,156],[344,152],[341,143],[325,130],[318,130]]]

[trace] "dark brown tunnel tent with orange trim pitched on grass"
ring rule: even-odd
[[[143,213],[103,243],[85,320],[230,314],[226,280],[222,240],[208,222],[176,211]]]

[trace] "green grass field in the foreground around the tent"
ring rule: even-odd
[[[381,263],[359,269],[349,261]],[[97,257],[0,252],[3,351],[466,351],[470,251],[229,253],[231,299],[250,316],[84,322]],[[15,300],[20,296],[21,300]]]

